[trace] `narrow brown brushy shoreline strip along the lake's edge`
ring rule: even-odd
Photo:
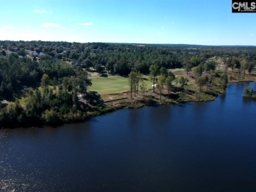
[[[237,82],[230,82],[229,84],[232,83],[245,83],[245,82],[256,82],[256,81],[237,81]],[[186,88],[184,88],[184,92],[188,90]],[[152,90],[150,90],[149,92],[151,92]],[[189,91],[189,90],[188,90]],[[146,106],[162,106],[162,105],[181,105],[181,104],[186,104],[186,103],[196,103],[196,102],[211,102],[213,100],[216,100],[216,98],[221,95],[221,94],[225,94],[226,89],[223,91],[217,91],[217,90],[213,90],[213,92],[211,92],[211,94],[205,93],[205,92],[194,92],[193,96],[195,96],[196,94],[200,94],[203,96],[203,98],[200,96],[199,97],[184,97],[184,92],[179,92],[176,95],[179,96],[179,98],[177,98],[176,100],[173,99],[166,99],[163,98],[162,100],[160,100],[159,98],[156,98],[155,96],[147,96],[145,97],[145,99],[141,98],[140,94],[137,94],[137,98],[123,98],[123,99],[117,99],[117,100],[108,100],[105,101],[104,104],[106,104],[106,106],[104,107],[99,107],[98,109],[96,109],[95,111],[89,111],[85,114],[85,116],[83,116],[81,119],[73,119],[72,121],[60,121],[58,123],[54,123],[54,124],[43,124],[43,123],[39,123],[39,125],[37,126],[17,126],[17,127],[3,127],[0,128],[1,129],[13,129],[13,128],[43,128],[43,126],[51,126],[53,128],[56,128],[58,126],[62,126],[65,124],[71,124],[71,123],[83,123],[89,119],[91,119],[92,117],[97,117],[99,115],[104,115],[107,113],[112,113],[115,112],[119,109],[139,109],[142,107],[146,107]],[[126,92],[127,93],[127,92]],[[159,95],[154,93],[155,95]],[[112,95],[119,95],[119,94],[112,94]],[[139,97],[140,96],[140,97]]]

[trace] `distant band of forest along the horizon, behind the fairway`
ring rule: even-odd
[[[242,58],[246,58],[249,63],[256,60],[255,47],[169,47],[51,41],[0,41],[0,45],[5,50],[16,50],[18,56],[24,56],[24,50],[32,50],[43,54],[39,60],[58,58],[72,61],[77,66],[94,67],[99,72],[104,66],[110,73],[119,75],[128,75],[133,69],[144,74],[150,73],[152,64],[157,64],[160,68],[177,68],[185,64],[194,67],[204,64],[214,56],[223,58],[223,62],[230,67],[234,64],[240,67]]]

